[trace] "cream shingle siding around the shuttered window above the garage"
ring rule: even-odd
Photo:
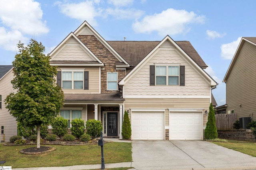
[[[185,86],[150,86],[150,65],[155,63],[184,65]],[[210,98],[210,80],[203,78],[196,69],[177,49],[161,48],[125,83],[124,98],[127,95],[203,95]]]

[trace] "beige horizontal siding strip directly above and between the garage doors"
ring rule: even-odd
[[[210,99],[143,99],[143,98],[126,98],[124,102],[124,110],[131,108],[143,109],[166,109],[165,111],[165,126],[169,125],[168,108],[176,109],[207,109],[209,112]],[[130,115],[129,115],[130,116]],[[204,126],[206,126],[207,116],[204,114]]]

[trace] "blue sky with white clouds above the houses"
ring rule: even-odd
[[[223,78],[241,37],[256,37],[255,0],[0,0],[0,65],[11,65],[17,44],[42,42],[46,55],[87,21],[106,41],[190,41],[206,72],[218,83],[218,106],[226,104]]]

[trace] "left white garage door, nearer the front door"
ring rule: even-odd
[[[132,139],[163,140],[164,112],[132,112]]]

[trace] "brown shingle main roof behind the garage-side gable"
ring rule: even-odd
[[[132,67],[136,66],[161,41],[107,41]],[[206,67],[189,41],[175,41],[200,67]]]

